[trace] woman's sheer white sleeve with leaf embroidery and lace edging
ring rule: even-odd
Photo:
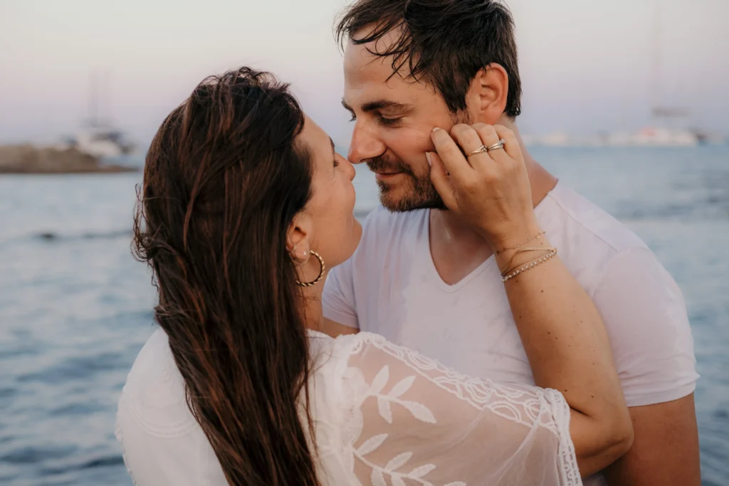
[[[336,341],[345,468],[360,484],[582,484],[561,393],[461,375],[375,334]]]

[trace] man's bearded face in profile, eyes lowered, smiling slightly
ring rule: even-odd
[[[385,36],[379,42],[388,42]],[[443,97],[424,82],[392,75],[392,59],[354,45],[344,52],[343,105],[356,118],[348,159],[365,162],[376,175],[380,200],[390,211],[445,209],[433,187],[425,152],[434,127],[454,125]],[[405,66],[407,68],[407,66]],[[390,78],[390,79],[388,79]]]

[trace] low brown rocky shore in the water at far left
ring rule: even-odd
[[[55,149],[31,144],[0,146],[0,173],[117,173],[139,169],[101,164],[77,149]]]

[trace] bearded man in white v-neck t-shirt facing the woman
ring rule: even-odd
[[[504,125],[521,82],[510,12],[488,0],[359,0],[338,26],[348,154],[377,174],[382,208],[332,270],[330,321],[383,334],[461,372],[533,383],[490,246],[445,205],[426,160],[434,127]],[[542,168],[521,143],[542,230],[600,311],[634,423],[631,450],[588,485],[700,483],[695,358],[685,304],[622,224]]]

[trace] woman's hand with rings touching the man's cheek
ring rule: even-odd
[[[494,251],[537,235],[529,177],[511,130],[459,124],[450,136],[441,128],[431,136],[437,150],[426,153],[431,179],[448,209],[475,227]],[[471,154],[499,139],[505,142],[503,149]]]

